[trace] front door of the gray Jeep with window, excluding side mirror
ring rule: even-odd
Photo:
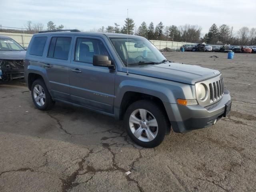
[[[113,113],[116,70],[92,65],[94,55],[107,55],[114,60],[104,40],[92,36],[76,36],[69,77],[72,102],[96,110]]]

